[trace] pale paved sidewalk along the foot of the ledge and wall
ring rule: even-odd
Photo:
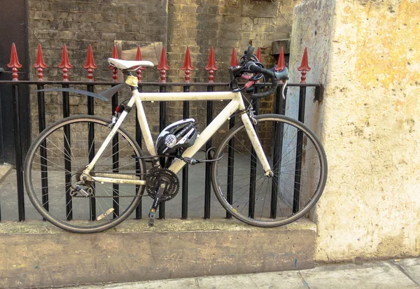
[[[187,279],[78,286],[74,288],[113,289],[371,289],[420,288],[420,258],[367,262],[364,264],[324,265],[315,269],[204,276]]]

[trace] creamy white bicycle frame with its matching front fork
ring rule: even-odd
[[[184,153],[183,157],[193,157],[195,153],[197,153],[202,146],[204,146],[207,141],[213,136],[215,132],[225,123],[226,120],[230,118],[230,115],[235,113],[238,110],[244,110],[245,104],[244,100],[242,99],[240,92],[139,92],[137,89],[132,90],[132,97],[130,101],[127,103],[127,107],[132,107],[134,104],[137,106],[137,116],[139,118],[139,125],[141,128],[141,132],[144,136],[144,141],[146,143],[146,148],[151,155],[157,155],[155,150],[155,145],[153,144],[152,134],[148,127],[148,122],[146,119],[146,115],[144,113],[144,108],[142,101],[197,101],[197,100],[230,100],[229,104],[223,108],[221,113],[219,113],[216,118],[202,131],[202,133],[197,137],[193,146],[187,148]],[[95,173],[94,176],[90,176],[90,171],[94,168],[97,160],[99,157],[102,156],[106,147],[111,143],[113,136],[116,134],[118,128],[125,120],[128,112],[125,110],[121,113],[120,117],[118,118],[116,124],[111,129],[111,132],[106,137],[104,143],[102,143],[101,147],[97,151],[96,155],[92,159],[92,162],[87,165],[86,169],[83,171],[83,176],[88,176],[88,178],[92,178],[94,181],[99,181],[103,183],[131,183],[136,185],[144,185],[146,181],[139,180],[138,176],[134,175],[127,175],[127,174],[99,174]],[[267,161],[267,157],[265,157],[265,153],[262,150],[262,146],[260,144],[260,140],[253,128],[253,124],[248,116],[247,113],[241,114],[241,120],[244,123],[244,127],[246,129],[246,133],[248,134],[249,139],[251,140],[252,146],[255,150],[255,154],[260,160],[262,167],[265,171],[265,174],[269,176],[272,172],[269,163]],[[183,166],[186,165],[186,162],[183,160],[176,160],[169,169],[173,171],[175,174],[178,173]]]

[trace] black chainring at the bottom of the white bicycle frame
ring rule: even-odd
[[[160,182],[165,181],[167,187],[163,192],[161,202],[173,199],[179,191],[179,178],[173,171],[169,169],[162,169],[160,167],[153,167],[146,175],[146,190],[148,195],[154,199],[158,190]]]

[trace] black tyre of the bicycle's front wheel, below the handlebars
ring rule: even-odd
[[[316,150],[318,151],[318,155],[320,155],[320,162],[322,164],[323,169],[321,169],[320,182],[318,183],[318,188],[316,189],[316,192],[314,192],[314,195],[311,198],[311,200],[308,202],[308,204],[306,206],[304,206],[304,208],[301,211],[294,214],[293,216],[290,216],[289,218],[279,220],[279,221],[276,221],[276,222],[267,223],[267,222],[260,221],[260,220],[254,220],[254,219],[251,219],[249,217],[244,218],[244,215],[242,215],[240,213],[237,213],[237,211],[235,209],[233,209],[232,206],[230,206],[228,201],[225,199],[225,197],[223,195],[223,192],[221,192],[221,190],[218,190],[218,188],[220,188],[220,187],[218,186],[218,182],[217,182],[216,162],[213,164],[213,167],[212,167],[212,170],[211,170],[211,183],[213,185],[213,190],[215,192],[215,195],[216,195],[218,201],[221,203],[221,205],[225,208],[226,211],[228,211],[230,214],[232,214],[232,216],[234,216],[235,218],[237,218],[241,222],[247,223],[248,225],[257,226],[257,227],[279,227],[279,226],[287,225],[289,223],[294,222],[295,220],[298,220],[298,219],[302,218],[316,204],[316,202],[318,202],[318,199],[321,197],[321,195],[323,193],[323,190],[325,188],[326,181],[327,181],[328,162],[327,162],[327,157],[325,155],[325,150],[323,149],[321,141],[319,141],[316,134],[314,134],[314,132],[312,132],[311,129],[309,129],[309,127],[304,125],[302,122],[300,122],[298,120],[295,120],[293,118],[289,118],[288,116],[278,115],[278,114],[265,114],[265,115],[255,116],[255,119],[257,121],[262,120],[264,118],[278,118],[279,120],[281,120],[284,123],[287,123],[289,125],[293,124],[298,129],[302,129],[302,131],[305,134],[307,134],[307,136],[310,136],[311,141],[316,146]],[[244,124],[239,123],[239,124],[235,125],[235,127],[232,127],[232,129],[229,130],[228,134],[226,134],[226,136],[223,138],[223,140],[219,144],[218,148],[216,148],[216,152],[214,153],[214,155],[215,155],[214,158],[215,159],[218,158],[218,157],[221,157],[221,153],[223,153],[223,149],[225,148],[226,143],[228,143],[228,141],[231,139],[232,135],[235,135],[243,127],[244,127]]]

